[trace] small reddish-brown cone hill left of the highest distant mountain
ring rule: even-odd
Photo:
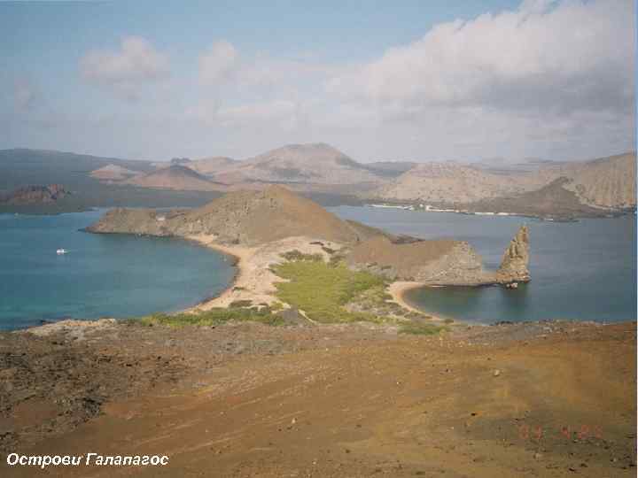
[[[210,181],[206,176],[180,165],[168,166],[151,173],[135,176],[128,184],[143,188],[178,189],[191,191],[223,190],[224,185]]]

